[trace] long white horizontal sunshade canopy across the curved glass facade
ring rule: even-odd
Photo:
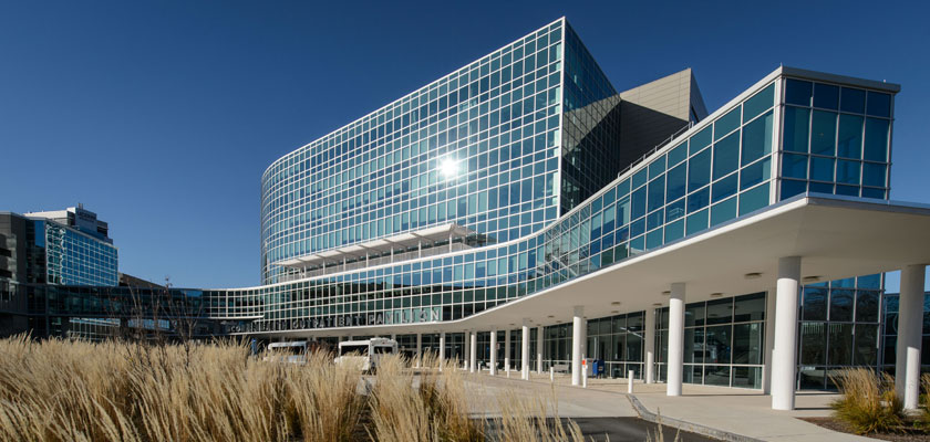
[[[310,265],[342,262],[342,260],[354,260],[358,257],[364,257],[366,254],[381,254],[390,252],[391,250],[413,248],[422,243],[446,241],[448,239],[462,239],[475,233],[476,232],[474,230],[453,222],[413,232],[405,232],[393,236],[381,238],[360,244],[330,249],[319,253],[311,253],[290,260],[279,261],[275,263],[275,265],[301,269]]]

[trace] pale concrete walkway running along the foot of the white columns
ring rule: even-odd
[[[503,375],[503,373],[502,373]],[[562,417],[630,415],[636,412],[626,397],[623,379],[589,379],[588,388],[571,387],[565,375],[556,375],[550,383],[549,375],[531,375],[530,381],[519,380],[519,373],[492,378],[486,372],[469,377],[489,388],[489,392],[517,388],[525,393],[555,391]],[[485,380],[478,380],[485,379]],[[513,387],[510,387],[513,386]],[[828,417],[829,402],[837,394],[826,392],[800,392],[794,411],[772,410],[772,398],[758,390],[731,389],[723,387],[683,386],[683,396],[665,396],[664,383],[634,383],[633,396],[652,413],[662,418],[693,423],[723,432],[764,441],[871,441],[874,439],[839,433],[797,418]]]

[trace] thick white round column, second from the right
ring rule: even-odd
[[[794,410],[797,370],[797,297],[800,256],[778,259],[775,288],[775,348],[772,350],[772,409]]]

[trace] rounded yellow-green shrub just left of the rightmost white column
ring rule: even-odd
[[[902,403],[895,391],[895,380],[865,368],[840,370],[831,380],[840,399],[830,403],[834,415],[849,424],[857,434],[898,431],[903,423]]]

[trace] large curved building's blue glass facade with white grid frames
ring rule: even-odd
[[[218,334],[337,338],[397,326],[403,348],[438,349],[426,325],[520,308],[803,198],[885,203],[898,90],[779,67],[707,115],[690,71],[618,93],[560,19],[275,161],[261,176],[264,285],[170,293]],[[661,108],[669,96],[681,112]],[[624,138],[659,117],[653,134]],[[798,386],[889,364],[880,276],[806,283]],[[49,307],[37,308],[49,315],[89,316],[108,296],[43,291]],[[683,380],[762,388],[773,292],[710,296],[685,306]],[[588,318],[588,356],[609,376],[643,377],[654,352],[664,379],[659,304]],[[569,364],[572,325],[542,316],[529,359]],[[515,328],[497,330],[496,349],[492,330],[477,330],[477,357],[521,364]],[[444,354],[465,357],[468,335],[447,332]]]

